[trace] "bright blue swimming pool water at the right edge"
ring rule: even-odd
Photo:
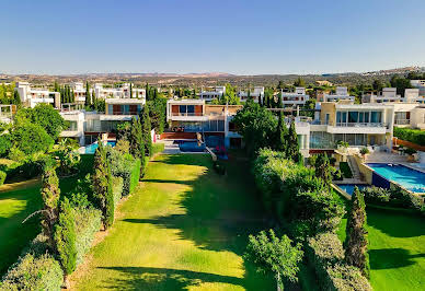
[[[367,164],[383,178],[413,193],[425,193],[425,173],[398,164]]]

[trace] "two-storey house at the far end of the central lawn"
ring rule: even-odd
[[[164,137],[196,138],[196,132],[205,137],[217,136],[223,139],[226,147],[241,147],[242,137],[231,121],[241,105],[209,105],[205,100],[169,100],[166,102],[166,121],[173,132]]]

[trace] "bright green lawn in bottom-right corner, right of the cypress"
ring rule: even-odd
[[[423,290],[425,228],[423,218],[367,209],[370,283],[375,290]],[[346,220],[338,236],[345,240]]]

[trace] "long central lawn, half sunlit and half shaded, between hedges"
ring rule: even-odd
[[[71,278],[76,288],[274,290],[241,257],[248,234],[263,225],[248,163],[227,164],[219,176],[209,155],[151,161],[89,265]]]

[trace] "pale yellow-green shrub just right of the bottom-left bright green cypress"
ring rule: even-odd
[[[102,226],[102,212],[93,208],[76,209],[76,249],[77,265],[80,265],[84,255],[93,244],[94,235]]]

